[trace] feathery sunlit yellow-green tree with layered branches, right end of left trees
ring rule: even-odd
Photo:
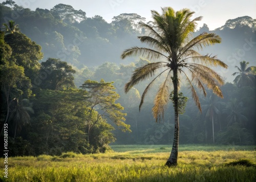
[[[89,102],[88,106],[88,141],[90,139],[90,131],[100,118],[109,118],[112,120],[123,132],[130,130],[130,125],[125,124],[122,113],[123,107],[120,103],[115,103],[119,95],[114,91],[113,82],[105,82],[103,79],[100,82],[88,80],[82,84],[81,88],[88,92]],[[98,113],[95,113],[96,110]],[[92,120],[93,115],[97,115],[96,120]],[[94,117],[95,118],[95,117]]]

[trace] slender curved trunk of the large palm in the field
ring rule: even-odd
[[[174,143],[172,151],[170,152],[170,157],[166,162],[166,166],[176,166],[178,160],[178,148],[179,148],[179,112],[178,112],[178,71],[174,70],[174,77],[173,77],[173,85],[174,85],[174,119],[175,119],[175,126],[174,126]]]

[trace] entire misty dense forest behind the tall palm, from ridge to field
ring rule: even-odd
[[[35,11],[13,1],[0,4],[0,126],[3,138],[8,124],[10,155],[105,152],[110,143],[172,143],[172,102],[160,123],[152,116],[158,85],[147,93],[140,112],[141,94],[151,80],[124,93],[133,71],[154,61],[120,58],[124,49],[142,45],[137,36],[146,32],[140,21],[146,19],[124,13],[108,23],[64,4]],[[202,94],[202,113],[180,78],[186,98],[180,144],[255,145],[255,25],[255,19],[244,16],[214,31],[204,24],[194,33],[222,38],[202,53],[217,55],[228,69],[216,70],[225,79],[224,98],[210,90]]]

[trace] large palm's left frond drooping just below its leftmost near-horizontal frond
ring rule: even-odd
[[[125,93],[127,93],[134,85],[153,76],[156,69],[164,67],[165,65],[165,62],[148,63],[145,66],[135,69],[131,80],[125,84]]]

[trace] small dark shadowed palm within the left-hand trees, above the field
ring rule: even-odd
[[[14,99],[14,108],[10,114],[8,122],[12,122],[14,129],[14,139],[16,137],[16,132],[20,132],[22,127],[26,124],[29,124],[30,113],[34,113],[32,109],[32,104],[29,102],[29,99],[22,99],[18,101],[17,98]]]

